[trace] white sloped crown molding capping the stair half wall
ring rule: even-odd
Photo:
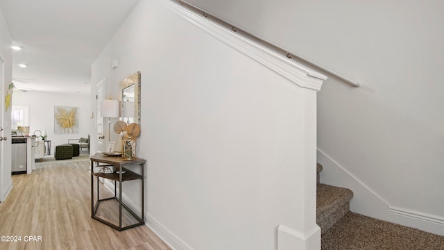
[[[300,65],[252,40],[248,40],[238,33],[234,33],[228,30],[228,28],[224,28],[203,16],[196,15],[196,13],[180,6],[178,3],[173,3],[173,1],[160,1],[164,6],[191,24],[194,24],[214,38],[237,49],[302,88],[316,91],[321,90],[323,81],[327,79],[327,76]]]

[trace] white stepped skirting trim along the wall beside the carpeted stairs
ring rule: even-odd
[[[323,165],[321,183],[349,188],[354,192],[350,201],[352,212],[444,235],[443,217],[392,206],[321,149],[318,149],[317,159]]]

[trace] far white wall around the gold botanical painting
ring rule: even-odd
[[[90,124],[93,120],[91,116],[90,97],[85,94],[62,94],[53,92],[20,92],[13,94],[13,106],[29,107],[29,133],[33,135],[34,131],[44,131],[51,140],[51,155],[54,155],[55,147],[60,144],[68,143],[69,139],[87,138],[92,133]],[[78,107],[79,124],[78,133],[55,134],[54,133],[54,106]]]

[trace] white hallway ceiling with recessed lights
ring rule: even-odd
[[[91,65],[139,0],[0,0],[17,90],[90,94]],[[28,65],[26,68],[19,64]]]

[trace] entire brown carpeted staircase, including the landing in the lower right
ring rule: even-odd
[[[350,212],[350,199],[353,197],[353,192],[348,188],[319,183],[319,173],[323,167],[318,163],[316,169],[316,224],[321,227],[322,250],[444,250],[442,235]]]

